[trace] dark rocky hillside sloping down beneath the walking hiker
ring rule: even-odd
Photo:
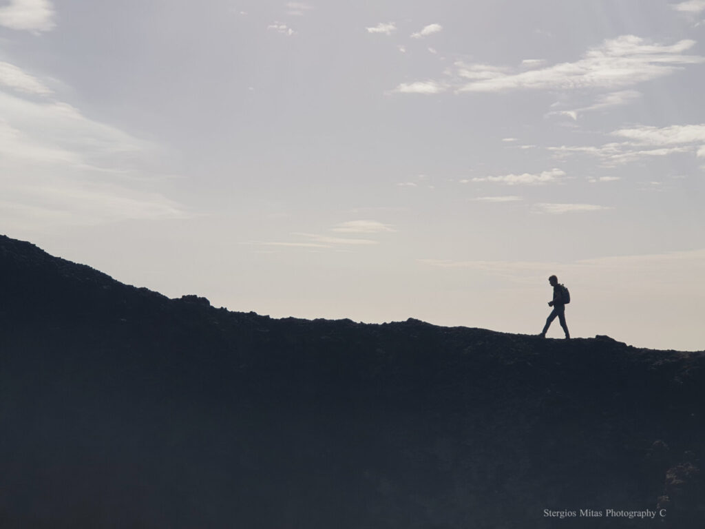
[[[0,527],[702,528],[704,367],[228,312],[2,236]]]

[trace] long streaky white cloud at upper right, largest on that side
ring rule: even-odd
[[[572,63],[558,63],[530,71],[484,64],[456,63],[458,92],[506,92],[510,90],[615,89],[663,77],[705,57],[686,55],[693,40],[672,45],[649,44],[634,35],[607,39]],[[452,74],[451,74],[452,75]],[[462,83],[469,79],[470,83]]]

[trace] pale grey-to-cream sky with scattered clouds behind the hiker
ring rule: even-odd
[[[705,349],[705,0],[0,0],[0,233],[271,317]],[[562,336],[554,322],[548,336]]]

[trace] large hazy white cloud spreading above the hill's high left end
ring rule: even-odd
[[[142,170],[156,145],[57,100],[18,66],[0,63],[0,85],[13,89],[0,90],[4,225],[24,230],[190,216],[155,193],[151,172]]]

